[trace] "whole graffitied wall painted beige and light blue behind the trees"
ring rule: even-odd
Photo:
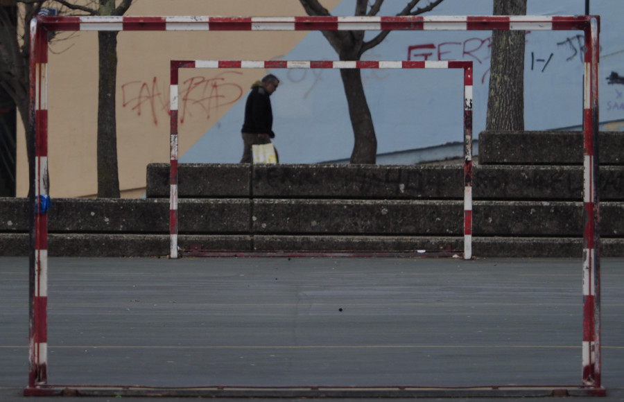
[[[174,5],[175,3],[175,5]],[[180,6],[181,3],[183,6]],[[257,5],[251,8],[249,4]],[[327,2],[330,3],[330,2]],[[397,12],[388,1],[383,15]],[[334,1],[334,15],[352,15],[352,0]],[[328,6],[333,6],[328,4]],[[593,0],[601,15],[600,121],[624,121],[621,0]],[[303,15],[297,1],[139,1],[132,15]],[[575,15],[584,0],[528,0],[529,15]],[[491,15],[492,0],[445,0],[431,14]],[[367,33],[369,37],[375,33]],[[485,128],[489,31],[393,32],[367,60],[472,60],[474,132]],[[539,31],[526,36],[526,129],[582,124],[582,33]],[[96,34],[78,33],[53,45],[50,62],[51,194],[96,193]],[[168,160],[168,60],[337,60],[321,33],[120,33],[118,147],[125,196],[140,196],[149,162]],[[237,163],[245,96],[267,71],[194,69],[180,76],[180,161]],[[272,96],[275,145],[283,163],[348,159],[353,134],[338,71],[271,71],[281,78]],[[615,74],[615,75],[613,75]],[[403,152],[462,141],[462,73],[444,70],[363,71],[378,152]],[[184,97],[182,96],[184,94]],[[23,135],[19,136],[23,138]],[[478,135],[476,136],[478,137]],[[24,149],[23,144],[21,149]],[[391,158],[384,158],[392,161]],[[22,158],[23,161],[23,158]],[[26,193],[24,165],[18,195]],[[133,190],[134,189],[134,190]]]

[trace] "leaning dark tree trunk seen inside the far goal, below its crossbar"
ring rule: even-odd
[[[364,86],[359,69],[341,69],[343,86],[349,105],[349,117],[354,132],[352,164],[374,164],[377,155],[377,140],[372,116],[368,108]]]

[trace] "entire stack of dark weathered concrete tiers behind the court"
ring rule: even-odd
[[[582,147],[582,134],[480,136],[474,256],[580,258],[582,148],[573,144]],[[613,150],[624,137],[603,138],[603,148]],[[623,150],[607,152],[600,169],[603,256],[624,255]],[[182,164],[179,244],[214,252],[462,250],[462,176],[462,165]],[[166,256],[168,164],[148,166],[146,195],[53,199],[49,254]],[[1,199],[0,255],[28,254],[29,209],[26,199]]]

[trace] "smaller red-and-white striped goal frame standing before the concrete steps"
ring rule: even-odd
[[[171,60],[170,107],[170,169],[169,169],[169,257],[177,259],[178,250],[178,107],[180,69],[463,69],[463,143],[464,143],[464,259],[472,258],[472,62],[453,61],[314,61],[314,60]]]

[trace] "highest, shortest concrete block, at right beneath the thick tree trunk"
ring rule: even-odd
[[[624,132],[598,134],[600,164],[624,164]],[[583,164],[580,131],[483,131],[479,134],[480,164]]]

